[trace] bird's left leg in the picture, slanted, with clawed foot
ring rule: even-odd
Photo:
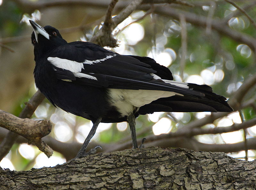
[[[100,121],[101,121],[101,117],[98,118],[98,119],[93,123],[92,129],[91,129],[91,131],[89,132],[89,134],[88,134],[88,136],[86,137],[86,139],[84,140],[84,143],[83,143],[81,149],[79,150],[79,152],[77,153],[76,158],[81,158],[81,157],[85,157],[85,156],[90,155],[90,154],[95,154],[95,153],[96,153],[96,149],[97,149],[97,148],[101,148],[101,146],[97,145],[97,146],[95,146],[93,149],[91,149],[89,152],[85,152],[88,143],[89,143],[90,140],[92,139],[93,135],[94,135],[95,132],[96,132],[96,129],[97,129],[98,125],[100,124]]]

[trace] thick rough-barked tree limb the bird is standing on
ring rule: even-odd
[[[0,189],[255,189],[256,162],[221,152],[151,147],[55,167],[0,171]]]

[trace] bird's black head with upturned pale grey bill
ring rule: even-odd
[[[35,60],[52,49],[67,43],[56,28],[52,26],[42,27],[33,20],[29,20],[29,22],[33,28],[31,42],[34,46]]]

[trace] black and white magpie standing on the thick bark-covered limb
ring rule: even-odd
[[[93,122],[77,154],[100,122],[127,121],[138,148],[135,118],[154,112],[231,112],[225,97],[207,85],[173,81],[171,71],[149,57],[120,55],[83,41],[68,43],[52,26],[30,20],[37,88],[54,105]]]

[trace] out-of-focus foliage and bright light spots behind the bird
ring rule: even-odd
[[[0,109],[16,116],[24,102],[36,92],[32,28],[26,24],[28,18],[41,26],[58,28],[68,42],[89,40],[101,27],[110,1],[52,2],[5,0],[0,5]],[[113,15],[129,2],[119,1]],[[230,98],[235,111],[212,116],[210,113],[140,116],[137,136],[148,138],[146,146],[224,151],[232,152],[229,155],[236,158],[255,159],[256,122],[239,128],[242,122],[254,121],[256,115],[255,83],[247,82],[256,81],[256,25],[250,21],[250,18],[256,19],[255,1],[232,1],[249,16],[222,0],[175,1],[174,4],[156,0],[143,2],[113,31],[120,45],[113,50],[120,54],[150,56],[168,66],[175,80],[208,84],[215,93]],[[241,85],[246,90],[239,91]],[[33,118],[49,119],[53,123],[51,134],[45,138],[54,150],[53,156],[48,159],[19,137],[0,163],[1,167],[29,170],[61,164],[76,155],[91,125],[86,119],[55,109],[48,100],[37,108]],[[223,128],[229,133],[222,133]],[[215,134],[212,134],[213,129],[217,131]],[[155,136],[161,133],[170,135]],[[0,140],[6,134],[7,131],[0,128]],[[101,124],[91,147],[96,144],[102,145],[103,151],[130,148],[129,127],[126,123]]]

